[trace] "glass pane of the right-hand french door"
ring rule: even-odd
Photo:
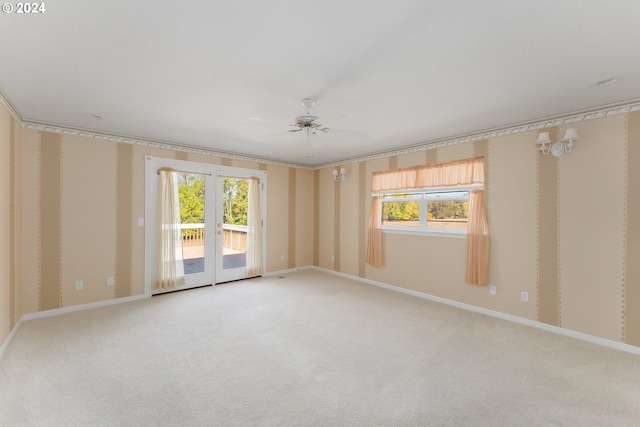
[[[222,268],[247,265],[247,212],[249,180],[224,178]]]

